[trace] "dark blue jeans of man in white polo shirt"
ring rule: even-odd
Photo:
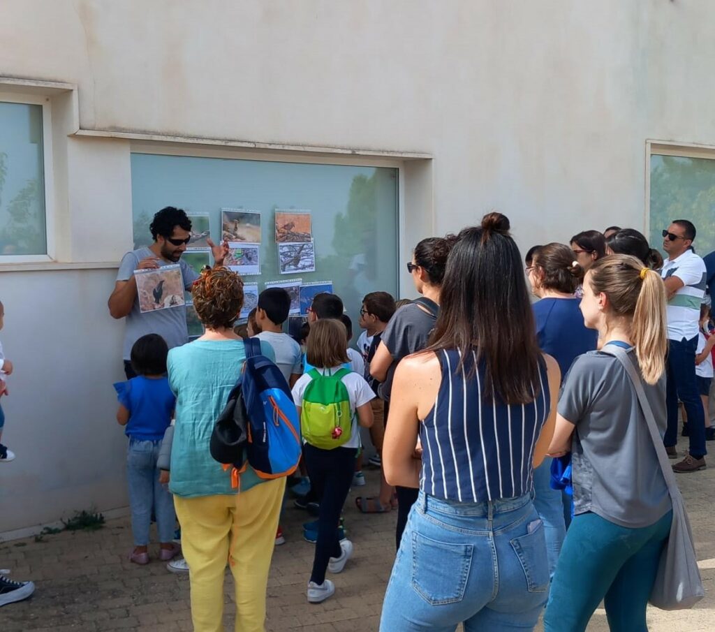
[[[705,449],[705,413],[695,379],[695,350],[698,337],[692,340],[669,340],[666,359],[666,410],[668,411],[668,429],[663,438],[667,448],[678,443],[678,400],[681,400],[688,415],[690,430],[690,454],[701,458],[708,452]]]

